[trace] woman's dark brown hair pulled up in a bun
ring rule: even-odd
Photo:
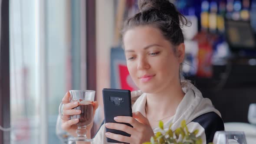
[[[125,20],[122,34],[135,26],[152,25],[159,28],[172,45],[184,43],[182,27],[187,19],[169,0],[138,0],[140,12]]]

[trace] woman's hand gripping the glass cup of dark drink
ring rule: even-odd
[[[70,93],[67,92],[66,95],[62,99],[63,106],[63,116],[62,116],[62,125],[61,128],[64,131],[67,131],[69,134],[71,134],[73,137],[76,137],[76,129],[77,129],[77,123],[79,122],[79,119],[70,119],[71,115],[79,115],[81,114],[81,110],[75,110],[73,108],[79,106],[79,102],[70,102]],[[98,102],[93,102],[93,117],[95,114],[95,110],[98,108]],[[87,133],[89,133],[92,129],[93,122],[86,127]],[[88,134],[89,135],[89,134]]]

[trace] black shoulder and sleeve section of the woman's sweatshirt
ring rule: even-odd
[[[208,112],[195,118],[193,122],[200,124],[205,131],[206,143],[213,142],[216,131],[224,131],[224,123],[222,118],[215,112]]]

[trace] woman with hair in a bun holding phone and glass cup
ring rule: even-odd
[[[194,85],[180,76],[185,54],[181,27],[187,25],[187,20],[168,0],[141,0],[139,8],[139,13],[125,21],[123,44],[128,71],[141,91],[132,93],[133,98],[139,96],[132,106],[133,117],[115,118],[115,121],[129,123],[134,128],[125,124],[103,124],[92,143],[107,144],[106,137],[109,137],[141,144],[160,131],[159,121],[164,122],[164,128],[172,123],[174,131],[182,120],[186,120],[189,131],[199,130],[197,136],[202,138],[203,144],[212,142],[214,133],[224,130],[220,112],[210,99],[203,98]],[[69,93],[63,101],[68,98]],[[78,115],[80,111],[71,110],[76,106],[69,103],[64,114],[67,117]],[[64,121],[62,128],[75,135],[77,122]],[[106,133],[105,127],[125,131],[131,137]]]

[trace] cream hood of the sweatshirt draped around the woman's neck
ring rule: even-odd
[[[164,123],[164,128],[168,128],[169,124],[172,123],[173,125],[171,129],[175,130],[181,126],[182,120],[185,120],[188,124],[198,116],[208,112],[215,112],[221,117],[220,112],[214,108],[210,99],[203,98],[202,93],[192,83],[189,81],[182,81],[181,85],[182,90],[185,93],[184,98],[178,105],[175,115],[169,121]],[[132,105],[138,98],[140,99],[140,102],[136,103],[135,105],[140,106],[135,106],[138,107],[138,109],[136,108],[135,111],[143,111],[144,113],[146,93],[143,93],[140,90],[131,92]],[[154,131],[158,131],[158,128],[154,129]]]

